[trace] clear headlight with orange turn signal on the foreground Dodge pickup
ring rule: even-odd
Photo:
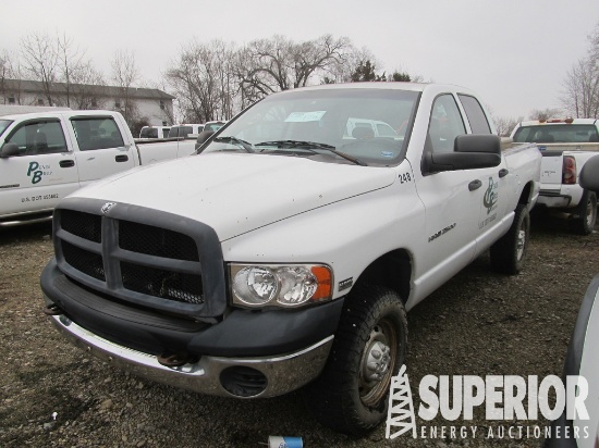
[[[297,307],[331,298],[332,273],[321,264],[231,264],[233,303]]]

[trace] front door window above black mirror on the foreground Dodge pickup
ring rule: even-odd
[[[437,97],[428,125],[428,139],[432,152],[452,152],[453,140],[464,134],[466,128],[453,96],[445,94]]]

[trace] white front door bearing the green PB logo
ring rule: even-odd
[[[80,187],[65,130],[56,117],[28,120],[7,129],[0,145],[15,144],[19,154],[0,159],[0,214],[51,210]]]

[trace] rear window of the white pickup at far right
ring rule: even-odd
[[[592,124],[545,124],[523,126],[514,135],[516,142],[536,144],[586,144],[599,141],[597,127]]]

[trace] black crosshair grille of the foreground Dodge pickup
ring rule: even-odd
[[[169,302],[204,303],[198,246],[190,235],[59,209],[54,244],[60,269],[99,293],[164,310]]]

